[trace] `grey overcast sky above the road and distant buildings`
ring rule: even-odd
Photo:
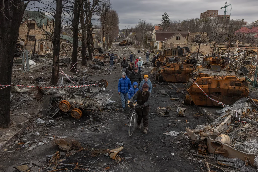
[[[166,12],[170,20],[200,18],[200,13],[207,10],[219,10],[224,14],[225,0],[110,0],[112,8],[118,12],[120,27],[135,26],[139,19],[148,23],[160,23]],[[244,19],[247,22],[258,20],[258,0],[230,0],[232,4],[230,19]],[[227,7],[229,15],[230,6]]]

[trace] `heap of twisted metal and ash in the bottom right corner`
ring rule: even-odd
[[[258,168],[258,112],[255,108],[257,105],[252,98],[244,97],[217,110],[221,115],[213,123],[193,130],[186,128],[188,138],[199,143],[195,156],[208,158],[208,153],[217,154],[217,164],[222,165],[222,169],[232,167],[234,159]]]

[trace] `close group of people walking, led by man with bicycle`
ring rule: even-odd
[[[123,61],[124,60],[125,58]],[[127,61],[123,61],[121,62],[121,68],[124,69]],[[141,58],[139,58],[137,63],[138,67],[142,66],[141,63]],[[141,106],[142,109],[135,109],[136,113],[138,114],[137,128],[141,129],[141,121],[143,119],[143,133],[148,134],[148,113],[150,110],[149,105],[151,100],[152,84],[148,75],[144,75],[142,79],[140,67],[138,67],[134,66],[133,62],[130,62],[128,67],[123,70],[122,78],[120,78],[118,81],[118,94],[121,97],[123,111],[126,109],[128,100],[130,100],[130,107],[135,102]]]

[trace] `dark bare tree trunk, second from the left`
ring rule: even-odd
[[[53,67],[52,77],[50,84],[55,85],[58,83],[59,75],[59,55],[60,55],[60,34],[61,34],[61,22],[62,22],[62,6],[63,0],[57,0],[57,9],[55,13],[55,29],[53,36]]]

